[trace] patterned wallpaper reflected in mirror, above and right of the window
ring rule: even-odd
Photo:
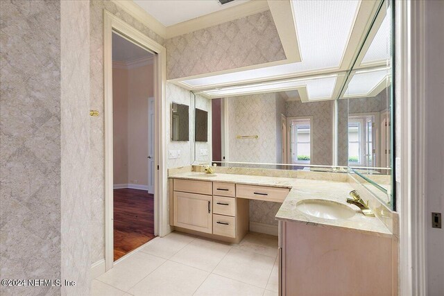
[[[287,102],[287,117],[313,116],[311,164],[331,166],[333,163],[333,106],[333,101]]]

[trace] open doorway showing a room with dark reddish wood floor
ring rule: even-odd
[[[155,238],[153,57],[112,33],[114,261]]]

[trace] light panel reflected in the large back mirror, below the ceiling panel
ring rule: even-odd
[[[307,87],[309,101],[332,98],[337,75],[321,78],[286,80],[279,82],[265,82],[253,85],[242,85],[237,87],[224,87],[223,89],[212,89],[203,92],[212,98],[224,96],[244,96],[257,92],[282,92],[284,90]]]

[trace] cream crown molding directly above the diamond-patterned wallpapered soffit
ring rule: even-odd
[[[167,39],[177,37],[194,31],[202,30],[203,28],[210,28],[227,21],[234,21],[248,15],[255,15],[259,12],[269,10],[266,0],[250,0],[246,3],[225,8],[208,15],[196,17],[189,21],[182,21],[182,23],[167,27]]]

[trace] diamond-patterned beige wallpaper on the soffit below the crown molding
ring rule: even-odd
[[[165,46],[168,79],[286,58],[269,10],[173,37]]]

